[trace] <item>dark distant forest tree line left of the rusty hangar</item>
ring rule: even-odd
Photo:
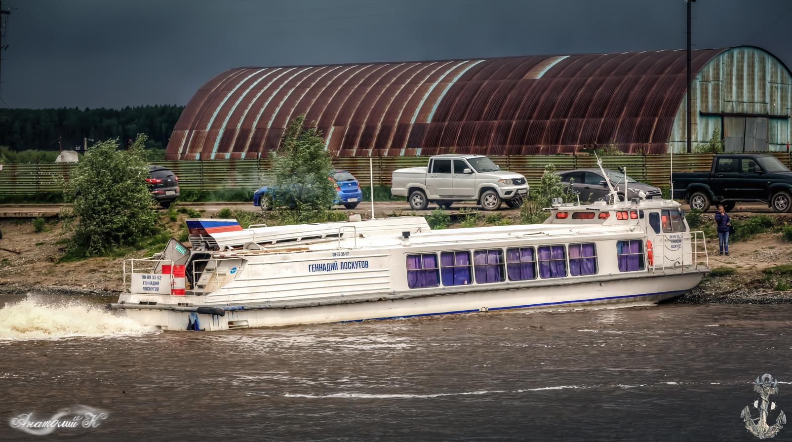
[[[164,149],[173,126],[184,110],[177,105],[149,105],[123,109],[0,109],[0,146],[10,151],[82,149],[105,139],[120,139],[123,146],[139,133],[148,135],[147,149]]]

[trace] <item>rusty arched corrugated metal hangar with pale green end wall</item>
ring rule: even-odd
[[[790,141],[790,70],[761,48],[693,51],[693,143]],[[167,159],[260,158],[304,113],[334,156],[684,152],[686,53],[531,55],[410,63],[240,67],[192,97]]]

